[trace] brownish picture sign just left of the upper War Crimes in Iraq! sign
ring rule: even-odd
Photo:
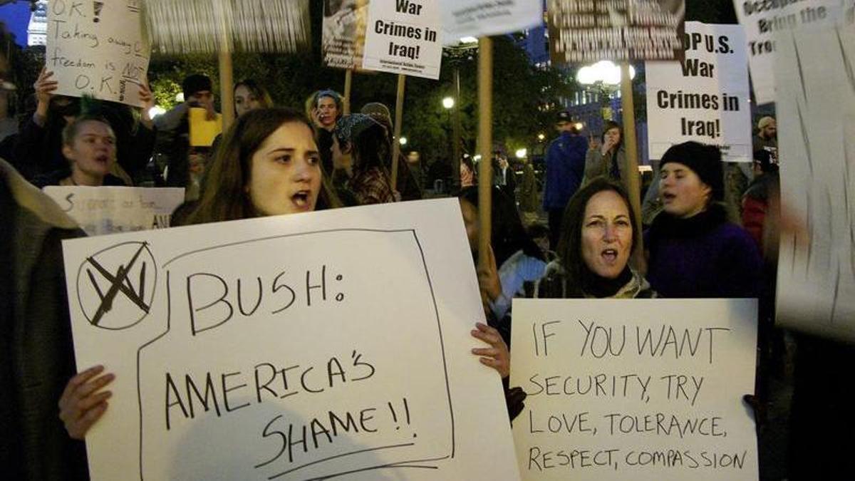
[[[327,67],[358,68],[363,64],[369,0],[329,0],[323,7],[321,50]]]

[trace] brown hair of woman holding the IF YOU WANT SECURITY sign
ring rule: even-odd
[[[629,223],[633,229],[633,243],[630,247],[630,253],[635,251],[635,246],[638,245],[641,238],[639,225],[635,222],[633,206],[629,202],[627,191],[623,187],[604,177],[597,177],[585,187],[579,189],[570,199],[567,208],[564,209],[564,217],[561,224],[561,239],[558,241],[556,252],[559,262],[561,263],[566,276],[564,282],[566,292],[568,294],[581,294],[580,282],[585,266],[585,261],[582,260],[581,245],[582,245],[582,227],[585,223],[585,209],[591,198],[601,192],[612,191],[623,199],[623,203],[627,205],[629,213]]]

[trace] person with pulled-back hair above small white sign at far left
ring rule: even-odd
[[[58,169],[32,180],[45,186],[124,186],[110,172],[115,163],[116,140],[113,128],[103,117],[79,116],[62,129],[62,155],[68,161]]]

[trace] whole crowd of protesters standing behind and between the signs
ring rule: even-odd
[[[224,106],[234,109],[236,122],[212,146],[199,148],[190,145],[189,111],[216,116],[213,86],[205,75],[187,77],[184,102],[153,120],[147,86],[139,90],[144,104],[139,111],[53,95],[56,81],[48,71],[34,87],[36,109],[20,133],[3,140],[11,148],[3,150],[9,158],[0,163],[0,212],[3,225],[11,226],[0,255],[11,256],[3,265],[14,266],[15,273],[0,276],[0,352],[8,353],[0,372],[4,392],[15,393],[3,396],[0,411],[2,419],[14,420],[9,432],[22,433],[22,442],[5,433],[2,441],[3,453],[25,460],[14,463],[15,478],[85,478],[83,444],[73,439],[84,439],[109,409],[114,379],[109,366],[74,369],[59,241],[82,233],[36,187],[132,185],[160,151],[168,162],[157,170],[156,185],[188,188],[190,202],[174,225],[423,196],[418,171],[404,156],[392,158],[392,122],[382,104],[345,115],[342,96],[321,90],[301,113],[274,107],[263,86],[243,80],[234,87],[234,105]],[[758,123],[753,179],[738,206],[742,226],[728,217],[717,147],[686,142],[669,148],[642,196],[639,223],[630,195],[642,193],[623,187],[628,173],[621,127],[607,122],[598,145],[588,145],[568,112],[558,114],[556,128],[558,137],[546,151],[542,211],[530,163],[519,165],[517,177],[516,167],[497,151],[496,175],[487,180],[478,178],[470,157],[460,163],[457,197],[474,264],[481,208],[476,186],[480,181],[494,186],[489,262],[475,265],[487,323],[476,324],[472,336],[486,347],[472,353],[503,378],[509,418],[522,411],[525,398],[522,389],[508,385],[514,297],[756,297],[766,332],[758,359],[768,361],[774,270],[761,252],[769,242],[769,225],[776,222],[769,211],[778,190],[775,120]],[[393,163],[398,163],[394,185]],[[199,185],[192,193],[194,177]],[[32,292],[9,295],[21,291]],[[19,332],[22,324],[33,326],[27,336]],[[757,394],[753,399],[762,404],[762,389]],[[0,460],[9,466],[6,461]]]

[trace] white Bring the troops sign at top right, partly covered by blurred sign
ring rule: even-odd
[[[852,0],[734,0],[736,16],[746,29],[754,98],[775,102],[775,33],[840,21]]]

